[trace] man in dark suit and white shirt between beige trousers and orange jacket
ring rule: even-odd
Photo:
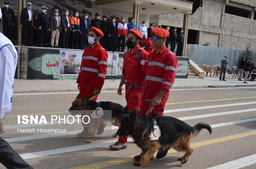
[[[70,31],[71,31],[71,24],[70,24],[70,16],[68,15],[68,10],[64,10],[64,15],[61,18],[62,22],[62,39],[61,39],[61,48],[66,48],[68,49],[68,41],[69,41],[69,36],[70,36]]]

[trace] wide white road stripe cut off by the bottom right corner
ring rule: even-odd
[[[247,167],[249,165],[253,165],[255,163],[256,163],[256,154],[249,155],[247,157],[243,157],[240,159],[236,159],[234,161],[229,161],[224,164],[216,165],[208,169],[240,169],[243,167]]]

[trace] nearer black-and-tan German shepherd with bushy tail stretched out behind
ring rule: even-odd
[[[148,140],[150,133],[154,130],[154,121],[156,120],[161,136],[158,140]],[[162,157],[172,147],[177,151],[185,151],[185,155],[178,160],[181,164],[185,164],[192,154],[193,149],[190,148],[190,138],[196,137],[202,129],[206,129],[212,134],[212,128],[206,123],[198,123],[191,127],[185,122],[170,116],[150,117],[139,115],[136,111],[125,115],[121,120],[121,126],[117,131],[118,136],[132,136],[134,143],[142,149],[140,161],[134,161],[134,165],[145,167],[146,163],[154,157],[154,153],[158,151],[163,153]],[[162,157],[158,157],[160,159]]]

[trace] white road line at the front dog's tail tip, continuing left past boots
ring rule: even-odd
[[[221,126],[228,126],[228,125],[233,125],[233,124],[239,124],[239,123],[244,123],[244,122],[251,122],[251,121],[256,121],[256,118],[252,119],[246,119],[246,120],[238,120],[234,122],[226,122],[226,123],[220,123],[220,124],[212,124],[210,125],[212,128],[216,127],[221,127]],[[133,141],[132,138],[129,138],[128,141]],[[64,148],[59,148],[59,149],[50,149],[46,151],[38,151],[38,152],[33,152],[33,153],[25,153],[21,154],[20,156],[23,159],[31,159],[31,158],[36,158],[36,157],[44,157],[47,155],[55,155],[55,154],[60,154],[60,153],[68,153],[72,151],[81,151],[85,149],[91,149],[91,148],[96,148],[96,147],[102,147],[102,146],[107,146],[110,144],[115,143],[115,141],[104,141],[100,143],[89,143],[85,145],[78,145],[78,146],[72,146],[72,147],[64,147]]]

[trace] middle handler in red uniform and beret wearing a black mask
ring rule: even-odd
[[[130,29],[128,35],[127,47],[130,48],[124,54],[124,64],[122,79],[118,88],[118,94],[122,95],[122,86],[126,81],[125,98],[126,106],[130,111],[140,108],[140,97],[142,94],[144,79],[146,75],[146,67],[148,65],[148,53],[140,48],[142,34],[134,29]],[[127,147],[127,137],[119,137],[114,145],[110,145],[112,150],[125,149]]]

